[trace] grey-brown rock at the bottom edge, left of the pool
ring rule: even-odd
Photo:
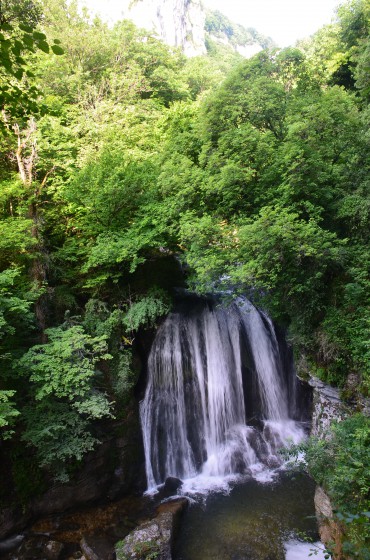
[[[117,560],[171,560],[180,519],[187,505],[186,498],[161,504],[154,519],[145,521],[117,543]]]

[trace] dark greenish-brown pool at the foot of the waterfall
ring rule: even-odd
[[[229,495],[210,495],[185,514],[174,559],[285,560],[285,542],[302,533],[318,540],[314,491],[307,475],[283,473],[272,483],[251,480]],[[309,560],[310,549],[289,558]]]

